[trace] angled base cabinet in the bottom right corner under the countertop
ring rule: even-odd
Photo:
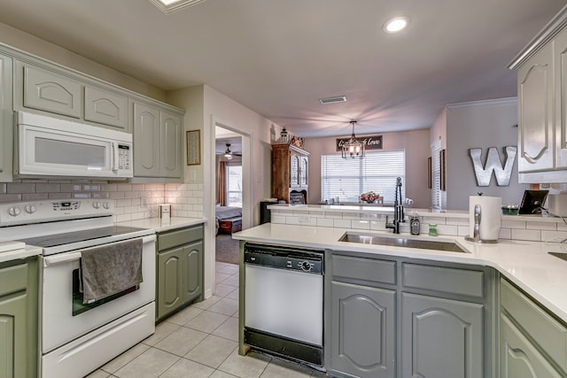
[[[567,327],[501,279],[501,377],[567,375]]]

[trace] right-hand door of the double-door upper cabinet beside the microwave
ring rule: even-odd
[[[181,117],[161,112],[159,158],[162,177],[182,177],[183,132],[181,127]]]

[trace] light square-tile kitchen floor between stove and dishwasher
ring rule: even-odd
[[[249,352],[238,355],[238,266],[216,263],[213,297],[190,305],[88,378],[325,377],[318,370]]]

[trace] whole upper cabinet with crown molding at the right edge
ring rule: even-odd
[[[567,174],[567,8],[509,68],[517,70],[518,178],[564,182]]]

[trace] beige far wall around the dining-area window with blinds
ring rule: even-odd
[[[415,207],[429,208],[430,189],[427,188],[427,158],[430,156],[430,130],[400,133],[383,133],[384,150],[406,150],[406,197],[412,198]],[[357,135],[362,137],[363,135]],[[321,201],[321,156],[338,153],[336,137],[307,138],[305,150],[309,155],[307,203]],[[392,182],[392,188],[396,183]]]

